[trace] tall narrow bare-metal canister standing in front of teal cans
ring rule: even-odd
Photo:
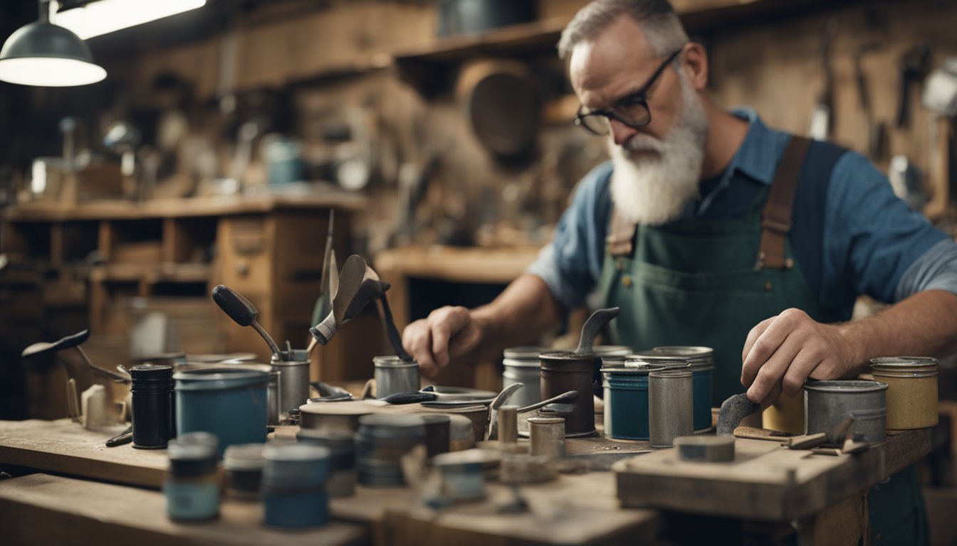
[[[691,370],[665,369],[648,374],[648,437],[655,448],[671,448],[675,438],[694,431]]]

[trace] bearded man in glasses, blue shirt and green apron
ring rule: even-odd
[[[553,242],[495,301],[406,328],[423,373],[501,358],[595,291],[621,308],[616,343],[713,347],[715,405],[745,389],[767,405],[872,358],[957,350],[957,245],[860,154],[715,105],[706,52],[666,0],[596,0],[558,48],[575,122],[608,136],[612,161],[582,180]],[[860,294],[892,305],[848,322]],[[880,512],[891,495],[872,495],[881,544],[926,539],[914,487],[894,495],[914,500],[894,507],[900,517]]]

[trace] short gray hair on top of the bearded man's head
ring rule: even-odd
[[[668,0],[594,0],[568,23],[558,41],[558,56],[568,60],[580,42],[594,39],[621,15],[631,16],[656,55],[668,55],[688,42]]]

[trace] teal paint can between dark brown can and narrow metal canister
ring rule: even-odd
[[[609,438],[648,440],[648,374],[664,368],[642,364],[602,368],[605,435]]]

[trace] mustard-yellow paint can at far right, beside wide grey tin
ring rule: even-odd
[[[874,379],[887,383],[887,428],[937,425],[937,359],[887,357],[871,360]]]

